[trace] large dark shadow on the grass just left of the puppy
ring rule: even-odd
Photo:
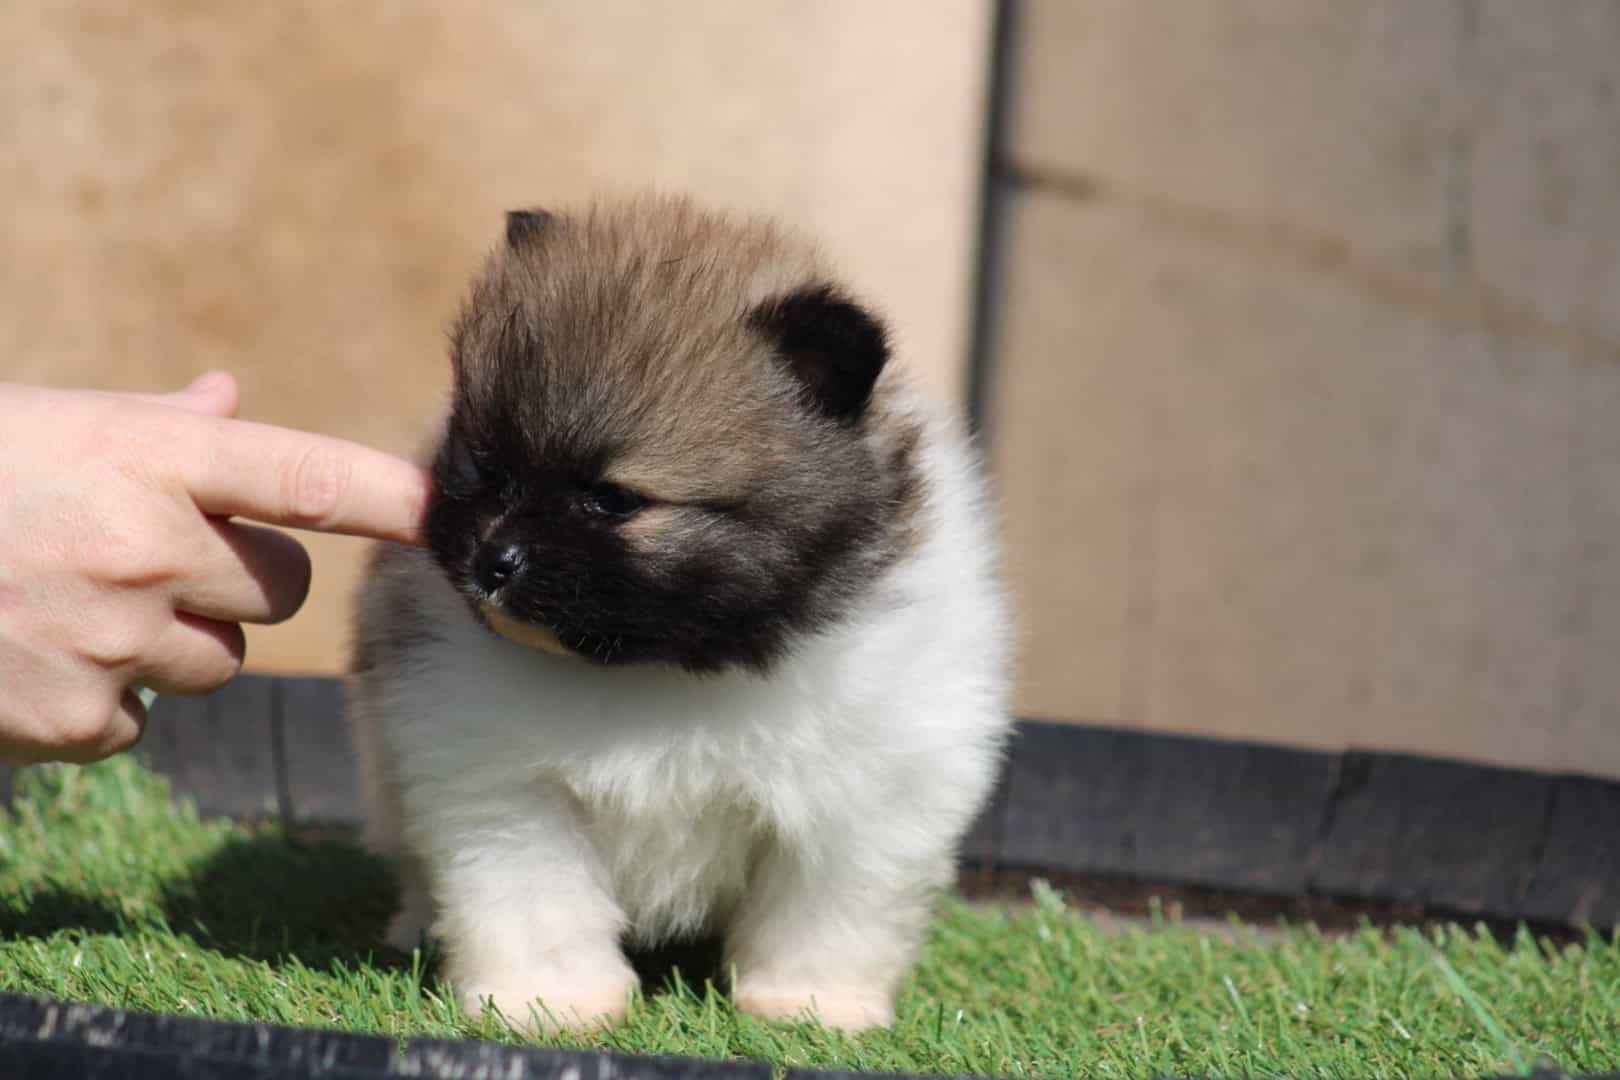
[[[382,944],[397,907],[387,863],[340,839],[238,837],[164,891],[177,933],[225,955],[308,968],[408,963]]]

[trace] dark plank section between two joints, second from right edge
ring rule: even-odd
[[[1554,777],[1348,753],[1312,889],[1515,916]]]

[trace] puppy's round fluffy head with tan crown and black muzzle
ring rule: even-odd
[[[492,630],[766,669],[901,552],[917,429],[883,325],[761,222],[514,212],[452,332],[429,546]]]

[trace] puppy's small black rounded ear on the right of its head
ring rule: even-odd
[[[889,359],[889,335],[870,311],[831,285],[766,300],[748,313],[815,406],[836,421],[857,419]]]

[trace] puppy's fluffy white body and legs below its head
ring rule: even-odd
[[[943,423],[923,474],[915,549],[768,678],[525,649],[390,552],[363,602],[408,589],[439,638],[353,695],[371,844],[416,868],[392,939],[439,933],[473,1009],[570,1025],[622,1015],[622,936],[721,931],[742,1009],[889,1022],[1008,725],[990,515]]]

